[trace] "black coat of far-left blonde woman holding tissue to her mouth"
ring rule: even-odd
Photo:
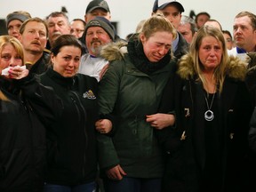
[[[59,116],[61,102],[30,76],[19,81],[0,76],[0,89],[0,191],[41,192],[45,126]]]

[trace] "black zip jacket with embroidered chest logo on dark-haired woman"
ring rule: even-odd
[[[95,180],[97,172],[94,124],[98,119],[97,80],[77,74],[63,77],[49,68],[40,76],[63,102],[59,119],[47,127],[46,182],[78,185]]]

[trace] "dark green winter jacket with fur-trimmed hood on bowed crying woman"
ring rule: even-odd
[[[157,113],[173,61],[165,60],[163,68],[147,74],[134,63],[143,63],[146,68],[149,65],[142,48],[129,52],[128,44],[128,53],[124,53],[120,49],[123,45],[110,44],[102,52],[110,64],[99,85],[100,116],[114,116],[115,121],[111,134],[97,136],[100,168],[108,170],[120,164],[127,177],[160,178],[164,168],[162,151],[146,115]],[[140,55],[139,59],[134,59],[135,54]]]

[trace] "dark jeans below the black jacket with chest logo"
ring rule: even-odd
[[[77,186],[62,186],[53,185],[46,183],[44,185],[44,192],[95,192],[96,184],[95,182],[86,183],[84,185]]]

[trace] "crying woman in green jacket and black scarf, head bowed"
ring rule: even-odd
[[[154,129],[174,123],[173,115],[157,110],[175,63],[171,52],[175,36],[172,24],[157,15],[128,42],[128,52],[122,53],[124,49],[115,44],[104,50],[108,60],[114,59],[100,81],[102,119],[96,123],[106,192],[161,190],[164,162]],[[113,56],[115,50],[120,51],[119,59]]]

